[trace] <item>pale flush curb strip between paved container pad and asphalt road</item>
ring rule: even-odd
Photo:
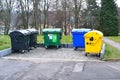
[[[6,60],[25,60],[35,63],[41,62],[104,62],[101,60],[79,60],[79,59],[57,59],[57,58],[24,58],[24,57],[4,57]]]

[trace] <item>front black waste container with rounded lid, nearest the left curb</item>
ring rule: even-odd
[[[27,30],[15,30],[9,34],[11,38],[12,52],[20,51],[24,53],[29,51],[30,32]]]

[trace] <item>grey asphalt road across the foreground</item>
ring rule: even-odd
[[[30,62],[0,59],[0,80],[120,80],[120,62]]]

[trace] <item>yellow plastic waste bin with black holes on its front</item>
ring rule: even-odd
[[[98,30],[93,30],[84,35],[85,38],[85,56],[87,54],[97,54],[100,57],[100,52],[103,44],[103,33]]]

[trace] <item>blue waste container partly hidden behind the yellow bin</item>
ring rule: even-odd
[[[73,29],[72,41],[74,50],[77,48],[85,48],[84,34],[91,31],[91,29]]]

